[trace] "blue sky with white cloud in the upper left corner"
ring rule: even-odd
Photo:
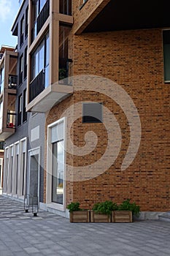
[[[1,45],[17,45],[17,37],[12,36],[11,28],[19,8],[18,0],[0,0],[0,48]]]

